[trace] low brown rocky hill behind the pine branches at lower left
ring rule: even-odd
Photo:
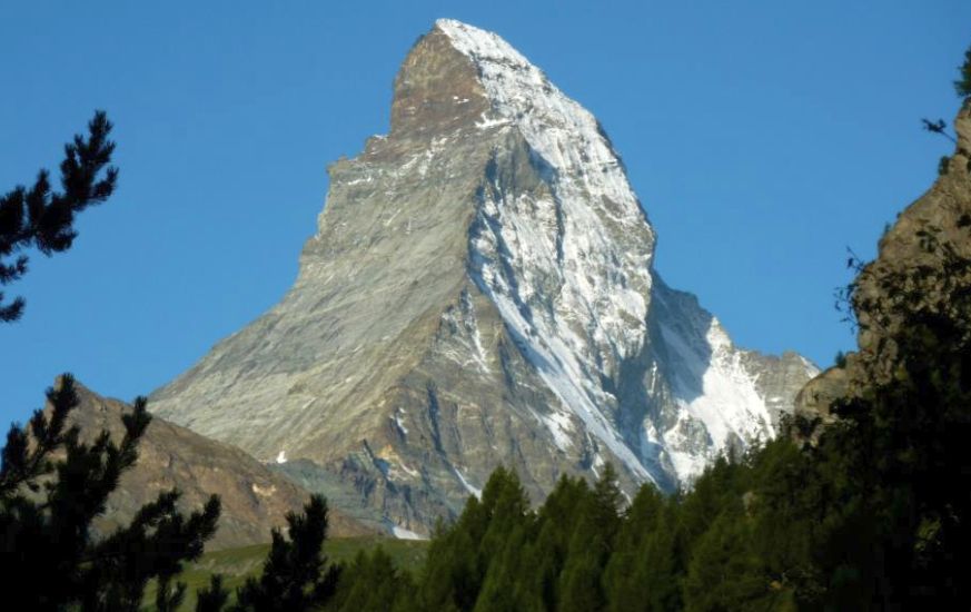
[[[80,404],[70,423],[89,442],[107,430],[121,440],[121,415],[131,409],[77,385]],[[210,494],[222,501],[219,529],[207,550],[269,542],[270,530],[286,526],[286,513],[299,512],[310,494],[239,448],[215,442],[155,416],[138,446],[138,463],[121,476],[95,529],[109,533],[127,524],[143,504],[172,487],[182,492],[181,509],[202,507]],[[337,537],[374,533],[340,511],[330,513],[330,534]]]

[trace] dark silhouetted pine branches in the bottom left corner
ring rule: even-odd
[[[0,574],[20,589],[31,610],[137,610],[145,586],[165,586],[158,603],[177,603],[185,586],[169,590],[182,563],[197,559],[216,531],[219,500],[188,517],[170,491],[143,506],[131,523],[95,540],[91,521],[102,513],[121,474],[138,458],[138,442],[151,417],[138,398],[123,415],[125,435],[116,444],[107,432],[93,443],[79,440],[67,419],[78,404],[70,375],[47,392],[49,414],[37,411],[28,428],[13,425],[0,465]]]

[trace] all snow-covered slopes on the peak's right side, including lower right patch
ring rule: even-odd
[[[601,381],[615,379],[621,364],[644,349],[655,295],[653,229],[593,115],[495,33],[448,19],[436,27],[479,73],[491,100],[479,125],[518,130],[546,175],[544,198],[488,191],[470,250],[476,284],[496,304],[563,411],[579,417],[646,478],[643,458],[652,445],[666,450],[684,481],[733,441],[773,435],[757,374],[746,369],[742,353],[704,313],[693,318],[706,320],[692,320],[692,327],[660,323],[658,339],[681,363],[670,381],[680,407],[675,425],[663,432],[647,426],[640,447],[625,444],[610,415],[616,397]],[[545,422],[554,433],[571,423],[562,413]],[[706,448],[685,437],[691,423],[703,425]]]

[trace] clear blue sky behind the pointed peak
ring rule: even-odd
[[[971,2],[0,4],[0,190],[56,167],[96,108],[117,195],[32,259],[0,326],[0,423],[60,372],[130,399],[275,304],[325,167],[387,130],[392,80],[438,17],[494,30],[604,124],[657,229],[657,268],[735,340],[826,365],[845,248],[950,152]]]

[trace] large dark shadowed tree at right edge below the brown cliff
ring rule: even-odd
[[[971,219],[952,231],[971,239]],[[882,606],[971,600],[962,578],[971,541],[971,259],[944,236],[916,233],[931,263],[865,268],[879,290],[851,297],[878,342],[861,362],[865,385],[834,407],[841,421],[822,441],[842,457],[853,502],[845,521],[854,529],[838,532],[831,547],[872,552],[850,569],[875,586],[871,601]]]

